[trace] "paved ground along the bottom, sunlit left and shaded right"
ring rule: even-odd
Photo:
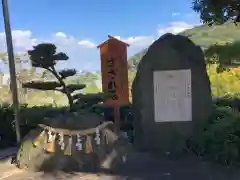
[[[144,153],[131,156],[115,175],[79,172],[30,173],[10,165],[6,169],[9,172],[0,172],[0,180],[240,180],[239,169],[201,162],[195,157],[173,158]]]

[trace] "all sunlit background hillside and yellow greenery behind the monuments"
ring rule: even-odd
[[[208,27],[202,25],[193,29],[186,30],[180,33],[183,36],[189,37],[194,43],[200,45],[203,49],[209,47],[216,42],[234,42],[240,41],[240,27],[233,24],[224,24],[220,26]],[[135,54],[128,60],[129,64],[129,91],[131,97],[131,85],[136,74],[136,69],[139,61],[146,53],[147,49]],[[238,71],[226,71],[224,73],[216,73],[214,66],[208,67],[208,74],[211,81],[212,93],[215,96],[222,96],[225,93],[234,94],[239,92],[240,74]],[[102,90],[101,88],[101,73],[100,72],[80,72],[77,75],[68,78],[67,83],[86,84],[87,87],[83,90],[84,93],[96,93]],[[2,96],[0,96],[0,102],[9,102],[11,100],[11,94],[9,86],[0,88]],[[53,91],[28,91],[27,94],[23,90],[19,90],[22,93],[20,97],[21,103],[28,103],[29,106],[43,105],[43,104],[56,104],[58,106],[65,105],[67,99],[60,93]],[[25,94],[24,94],[25,93]]]

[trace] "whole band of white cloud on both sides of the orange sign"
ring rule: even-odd
[[[171,32],[179,33],[185,29],[194,27],[195,24],[186,22],[172,22],[168,25],[158,26],[157,32],[150,35],[121,37],[114,36],[130,45],[128,48],[128,56],[131,56],[142,49],[148,47],[160,35]],[[88,38],[78,39],[64,32],[56,32],[52,36],[45,39],[34,36],[30,30],[14,30],[12,31],[14,51],[26,52],[32,46],[42,43],[54,43],[58,51],[65,52],[69,56],[69,61],[61,63],[60,67],[76,68],[78,70],[96,71],[100,69],[100,55],[96,48],[96,43]],[[90,37],[91,38],[91,37]],[[107,39],[107,35],[106,35]],[[104,40],[106,40],[104,39]],[[97,42],[100,44],[101,42]],[[5,33],[0,32],[0,52],[6,52]],[[1,67],[0,67],[1,68]]]

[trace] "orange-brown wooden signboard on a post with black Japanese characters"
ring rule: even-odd
[[[120,129],[120,105],[129,104],[127,47],[129,45],[112,36],[98,46],[101,56],[103,92],[112,93],[104,102],[113,107],[116,131]]]

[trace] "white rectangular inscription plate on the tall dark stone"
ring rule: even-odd
[[[155,122],[192,121],[191,70],[154,71]]]

